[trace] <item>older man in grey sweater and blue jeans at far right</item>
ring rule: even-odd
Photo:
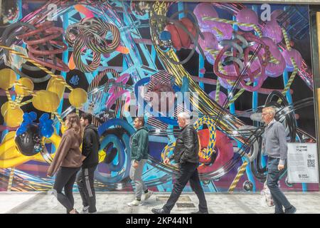
[[[274,120],[274,115],[274,108],[262,109],[262,120],[267,125],[265,128],[265,151],[268,155],[267,186],[273,198],[275,214],[293,214],[297,209],[289,203],[278,186],[280,171],[284,169],[284,162],[287,159],[288,147],[286,130],[282,123]]]

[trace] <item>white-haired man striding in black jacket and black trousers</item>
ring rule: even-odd
[[[206,197],[201,187],[197,170],[199,163],[198,134],[190,122],[190,115],[188,113],[180,113],[178,115],[178,125],[182,128],[182,131],[176,139],[174,155],[164,160],[164,163],[168,164],[169,160],[174,158],[178,163],[178,175],[171,195],[166,204],[164,204],[164,207],[161,209],[151,209],[154,214],[170,214],[171,209],[174,208],[174,204],[176,204],[188,181],[190,182],[193,192],[196,192],[199,199],[199,211],[193,212],[192,214],[208,214]]]

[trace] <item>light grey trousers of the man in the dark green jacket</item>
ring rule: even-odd
[[[130,179],[134,181],[135,195],[136,199],[141,200],[142,193],[147,190],[146,185],[142,180],[142,172],[144,170],[144,165],[148,160],[142,159],[139,161],[139,166],[136,168],[133,167],[134,160],[131,161],[131,168],[130,168]]]

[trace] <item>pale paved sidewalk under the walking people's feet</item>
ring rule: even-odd
[[[289,201],[297,207],[299,214],[320,212],[320,192],[286,192]],[[108,214],[149,214],[152,208],[160,208],[169,193],[154,192],[142,206],[128,207],[127,202],[134,199],[132,192],[97,192],[98,213]],[[81,198],[74,193],[75,208],[82,210]],[[143,199],[143,198],[142,198]],[[274,207],[268,207],[260,194],[206,193],[209,213],[211,214],[267,214]],[[22,193],[0,192],[0,213],[11,214],[64,214],[65,208],[50,192]],[[188,214],[198,210],[198,199],[191,192],[181,195],[172,214]]]

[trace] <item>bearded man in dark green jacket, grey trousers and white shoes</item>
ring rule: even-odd
[[[134,119],[134,128],[137,132],[130,138],[131,147],[131,169],[130,178],[134,181],[136,187],[135,199],[128,203],[129,207],[139,206],[141,204],[142,192],[144,192],[144,200],[149,199],[152,191],[146,188],[142,180],[142,172],[144,165],[148,161],[149,155],[149,136],[148,129],[144,127],[144,118],[137,117]]]

